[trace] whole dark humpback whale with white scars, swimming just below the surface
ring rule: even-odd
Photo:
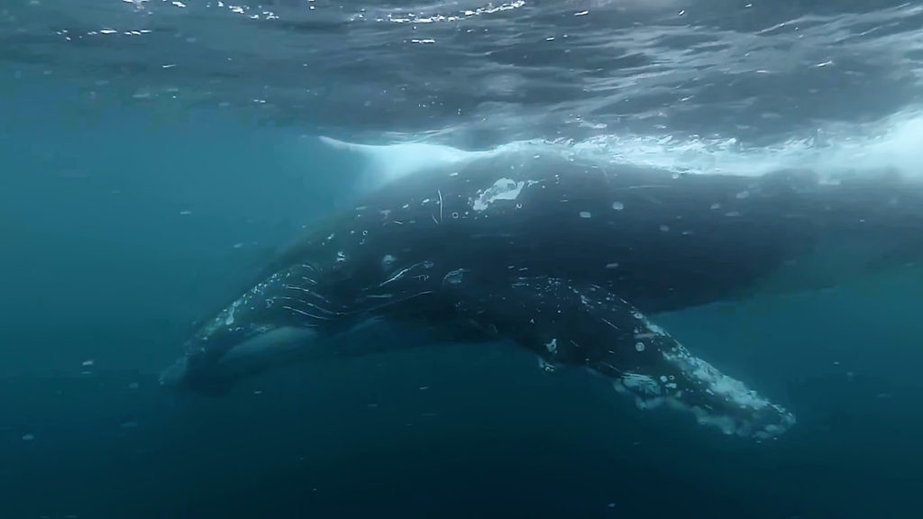
[[[162,384],[222,394],[375,320],[508,340],[641,409],[775,438],[795,416],[651,316],[842,283],[923,256],[923,190],[881,175],[677,175],[547,157],[419,171],[310,226],[210,314]],[[348,355],[362,355],[351,351]]]

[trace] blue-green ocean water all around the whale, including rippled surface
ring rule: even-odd
[[[423,166],[919,176],[921,92],[920,2],[7,0],[0,518],[923,516],[915,265],[657,316],[797,414],[761,444],[509,344],[157,383],[299,229]]]

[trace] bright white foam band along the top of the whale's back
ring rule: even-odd
[[[821,176],[893,170],[923,178],[923,107],[906,109],[863,125],[818,127],[811,135],[763,147],[747,147],[733,136],[677,138],[672,135],[599,135],[582,141],[519,140],[485,151],[464,151],[425,141],[359,144],[321,138],[336,149],[355,151],[369,169],[389,182],[425,168],[457,166],[476,159],[528,152],[600,165],[627,163],[677,173],[757,176],[785,169]]]

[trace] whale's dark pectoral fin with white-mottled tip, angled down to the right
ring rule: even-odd
[[[685,411],[725,434],[768,439],[795,416],[697,356],[627,301],[593,284],[517,278],[509,287],[456,289],[458,307],[548,365],[582,366],[613,380],[641,409]],[[464,295],[464,296],[462,296]]]

